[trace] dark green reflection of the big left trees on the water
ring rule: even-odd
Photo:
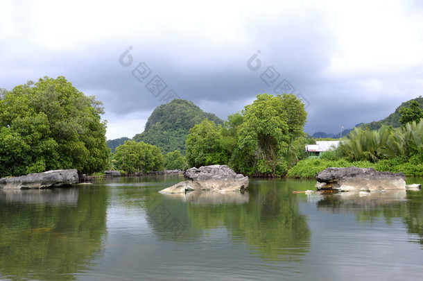
[[[19,191],[0,191],[1,276],[74,280],[75,273],[89,268],[90,259],[101,255],[107,191]]]

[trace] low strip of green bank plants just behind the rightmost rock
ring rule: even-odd
[[[377,163],[369,161],[349,162],[347,160],[325,160],[319,158],[301,160],[292,167],[286,174],[287,178],[310,179],[316,176],[316,173],[329,167],[351,167],[374,168],[377,171],[391,171],[392,173],[403,172],[406,176],[423,176],[423,163],[418,161],[404,162],[401,159],[379,160]]]

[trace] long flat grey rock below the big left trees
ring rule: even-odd
[[[0,188],[46,188],[62,187],[78,182],[76,169],[45,171],[44,173],[30,173],[16,178],[1,178]]]

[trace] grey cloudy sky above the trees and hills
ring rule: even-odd
[[[0,87],[44,76],[103,101],[108,139],[174,94],[226,119],[284,80],[307,133],[338,133],[423,95],[423,4],[0,0]]]

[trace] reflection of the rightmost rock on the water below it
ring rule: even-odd
[[[406,196],[405,190],[372,191],[365,196],[359,192],[340,192],[321,196],[317,206],[332,214],[349,214],[381,205],[405,204]]]

